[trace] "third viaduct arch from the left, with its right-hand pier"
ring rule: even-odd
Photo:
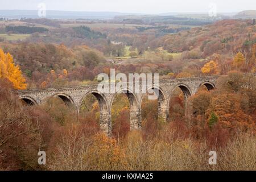
[[[108,102],[104,96],[104,94],[98,92],[97,90],[92,90],[89,92],[86,92],[80,102],[79,105],[77,106],[77,110],[79,112],[82,100],[88,95],[88,94],[93,94],[94,97],[97,98],[98,104],[100,105],[100,129],[103,131],[106,135],[110,136],[111,131],[112,131],[112,126],[111,126],[111,115],[109,112],[109,106]]]

